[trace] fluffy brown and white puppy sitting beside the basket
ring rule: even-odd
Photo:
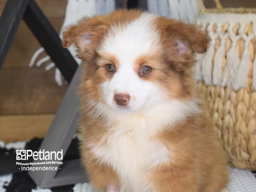
[[[207,50],[195,25],[137,10],[83,18],[64,32],[83,61],[81,155],[108,192],[220,192],[224,153],[193,81]]]

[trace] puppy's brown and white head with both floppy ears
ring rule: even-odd
[[[147,111],[172,99],[191,99],[193,54],[207,49],[195,25],[140,11],[84,18],[64,32],[81,60],[84,104],[116,112]]]

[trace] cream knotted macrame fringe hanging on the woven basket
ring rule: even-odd
[[[227,14],[215,14],[215,15],[224,15]],[[230,16],[231,15],[231,16]],[[228,86],[235,90],[239,88],[246,87],[246,80],[250,70],[250,61],[251,55],[249,52],[249,44],[254,39],[256,41],[256,15],[248,14],[247,17],[244,17],[244,20],[240,18],[237,23],[230,22],[232,17],[238,17],[239,14],[230,14],[226,18],[214,18],[214,14],[201,14],[197,20],[198,24],[204,26],[208,32],[208,35],[211,39],[207,52],[202,56],[201,61],[201,71],[196,71],[196,78],[201,76],[204,80],[204,83],[207,85],[221,85]],[[230,18],[231,17],[231,18]],[[209,22],[207,22],[207,19]],[[225,21],[226,19],[226,21]],[[230,22],[230,23],[229,23]],[[228,23],[228,27],[225,32],[223,32],[223,25]],[[247,35],[244,30],[247,25],[253,23],[252,33]],[[235,34],[232,30],[236,24],[240,25],[238,34]],[[214,29],[215,28],[215,29]],[[216,48],[216,40],[219,40],[219,46]],[[230,39],[231,45],[227,50],[226,42],[227,39]],[[243,52],[241,53],[241,58],[239,58],[237,51],[237,44],[240,40],[244,41]],[[223,67],[223,59],[227,58],[227,66]],[[212,61],[213,65],[212,65]],[[254,59],[255,60],[255,59]],[[254,62],[255,63],[255,62]],[[197,67],[197,65],[196,65]],[[253,80],[255,77],[255,69],[253,67]],[[200,73],[200,74],[199,74]],[[252,88],[256,89],[256,80],[252,83]]]

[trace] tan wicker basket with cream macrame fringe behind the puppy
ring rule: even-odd
[[[205,9],[197,23],[210,43],[195,79],[230,163],[256,170],[256,9]]]

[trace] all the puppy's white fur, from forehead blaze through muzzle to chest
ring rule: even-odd
[[[119,174],[120,192],[150,191],[148,171],[172,161],[173,157],[172,149],[154,136],[200,111],[196,100],[170,101],[159,85],[141,79],[134,71],[138,56],[160,49],[160,33],[152,23],[154,18],[143,14],[130,24],[113,26],[98,51],[115,55],[120,67],[102,84],[102,100],[87,103],[90,112],[104,117],[106,125],[111,127],[110,136],[103,135],[101,142],[87,145],[99,160]],[[115,93],[131,96],[128,108],[116,105]]]

